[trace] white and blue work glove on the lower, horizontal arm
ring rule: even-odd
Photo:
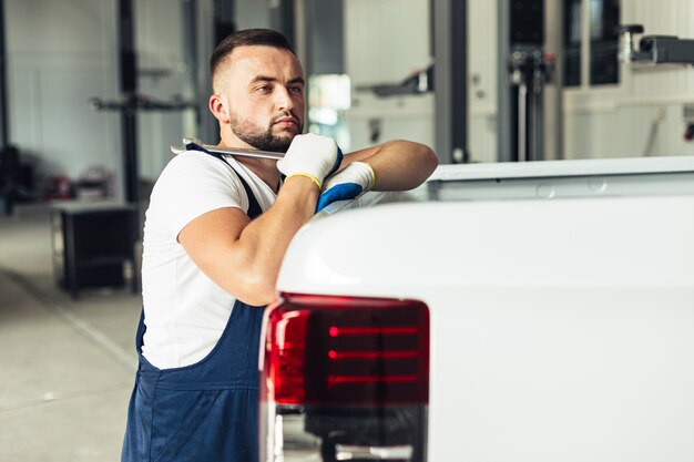
[[[335,201],[351,199],[368,192],[376,184],[376,173],[364,162],[353,162],[345,170],[326,178],[318,197],[316,213]]]

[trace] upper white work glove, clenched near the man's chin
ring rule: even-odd
[[[323,188],[323,181],[343,162],[343,152],[333,138],[327,136],[296,135],[284,158],[277,161],[277,170],[287,178],[307,176]]]

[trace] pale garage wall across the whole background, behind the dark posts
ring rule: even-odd
[[[160,100],[191,95],[183,57],[180,1],[136,1],[141,68],[169,70],[140,80]],[[238,27],[267,25],[266,9],[241,1]],[[92,96],[118,89],[115,0],[6,0],[10,140],[40,161],[40,170],[78,177],[99,165],[115,173],[122,195],[120,117],[94,112]],[[353,90],[399,82],[431,62],[429,0],[344,0],[346,70]],[[497,2],[469,0],[469,140],[472,161],[496,158]],[[262,13],[262,14],[261,14]],[[622,23],[646,33],[694,38],[691,0],[622,0]],[[206,66],[207,57],[200,57]],[[202,97],[202,95],[201,95]],[[206,97],[206,95],[205,95]],[[380,141],[405,137],[433,145],[431,94],[377,99],[354,91],[346,119],[351,146],[370,145],[369,121]],[[614,157],[694,154],[683,141],[684,104],[694,104],[694,69],[631,72],[619,85],[570,89],[564,94],[564,154]],[[140,114],[140,171],[154,179],[171,158],[169,145],[195,130],[192,112]]]

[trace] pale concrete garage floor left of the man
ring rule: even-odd
[[[119,461],[141,297],[54,281],[49,208],[0,215],[0,461]]]

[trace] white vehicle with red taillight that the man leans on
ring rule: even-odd
[[[441,166],[322,215],[266,315],[262,461],[694,460],[694,157]]]

